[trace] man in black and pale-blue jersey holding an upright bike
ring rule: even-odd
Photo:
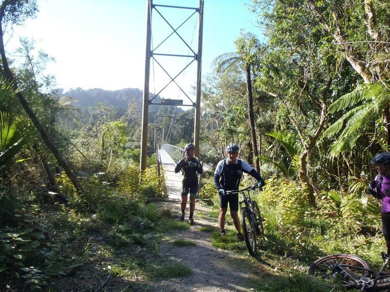
[[[242,241],[240,219],[238,218],[238,194],[226,194],[226,191],[238,190],[242,172],[254,177],[260,187],[264,186],[264,180],[258,172],[246,161],[238,159],[238,146],[229,144],[226,146],[227,158],[218,162],[214,172],[214,184],[218,190],[219,216],[218,222],[221,236],[225,236],[225,215],[230,206],[230,216],[233,219],[234,227],[237,230],[237,238]]]

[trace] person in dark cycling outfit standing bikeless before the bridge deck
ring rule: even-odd
[[[183,170],[183,181],[181,187],[181,215],[180,221],[184,220],[185,209],[187,205],[188,193],[190,193],[190,217],[188,223],[194,224],[194,211],[195,211],[195,197],[198,192],[198,176],[196,173],[202,174],[203,169],[199,160],[194,157],[195,146],[194,144],[187,144],[184,146],[184,158],[180,160],[175,167],[175,173]]]

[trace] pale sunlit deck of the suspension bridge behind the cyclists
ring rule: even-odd
[[[181,173],[175,173],[176,163],[165,150],[159,150],[161,164],[165,166],[165,180],[168,188],[168,198],[175,201],[181,199],[181,181],[183,176]]]

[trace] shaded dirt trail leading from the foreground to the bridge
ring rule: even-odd
[[[172,209],[179,215],[179,202],[162,201],[162,208]],[[193,273],[188,277],[168,280],[153,280],[143,283],[145,291],[158,292],[246,292],[251,290],[251,283],[261,280],[261,264],[249,256],[237,255],[234,252],[216,249],[211,245],[211,233],[200,231],[202,226],[218,227],[217,221],[208,214],[210,209],[196,203],[195,224],[188,230],[179,230],[169,235],[172,239],[188,239],[195,246],[178,247],[169,241],[160,244],[161,256],[190,268]],[[188,217],[186,213],[186,217]],[[234,229],[234,226],[227,226]],[[245,244],[244,244],[245,245]]]

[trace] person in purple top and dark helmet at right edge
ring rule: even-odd
[[[382,231],[390,255],[390,152],[375,155],[370,163],[375,165],[378,175],[367,186],[367,191],[382,200]]]

